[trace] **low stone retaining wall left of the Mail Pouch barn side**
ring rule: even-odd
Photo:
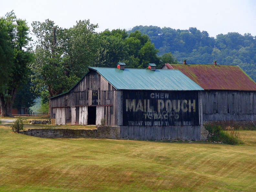
[[[19,133],[43,138],[120,139],[120,127],[97,126],[97,129],[28,129]]]

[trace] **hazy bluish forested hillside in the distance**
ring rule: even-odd
[[[180,30],[157,26],[136,26],[128,33],[136,30],[150,37],[158,55],[172,52],[178,62],[187,59],[191,64],[212,64],[217,60],[222,65],[239,65],[256,81],[256,37],[250,33],[230,32],[214,38],[195,27]]]

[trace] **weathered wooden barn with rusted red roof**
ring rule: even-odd
[[[203,121],[255,121],[256,83],[233,65],[164,64],[200,85]]]

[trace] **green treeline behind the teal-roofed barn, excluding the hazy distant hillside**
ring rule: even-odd
[[[176,63],[171,53],[158,56],[150,38],[124,29],[96,33],[98,25],[80,20],[68,29],[49,19],[32,23],[36,42],[29,37],[26,20],[14,12],[0,18],[0,105],[4,116],[15,107],[29,107],[37,96],[47,110],[48,97],[69,90],[88,71],[88,66],[146,68],[155,63]],[[31,45],[32,43],[32,45]]]

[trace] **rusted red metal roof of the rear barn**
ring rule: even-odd
[[[236,65],[169,65],[169,69],[180,70],[205,90],[256,91],[256,83]]]

